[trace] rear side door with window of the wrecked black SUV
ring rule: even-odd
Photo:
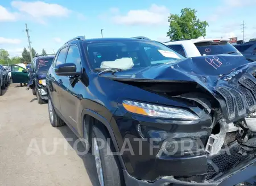
[[[58,113],[63,115],[60,107],[61,89],[63,89],[63,83],[60,76],[55,73],[55,66],[65,63],[68,47],[60,49],[56,54],[55,59],[52,62],[52,66],[49,68],[47,76],[47,84],[50,91],[52,104]]]

